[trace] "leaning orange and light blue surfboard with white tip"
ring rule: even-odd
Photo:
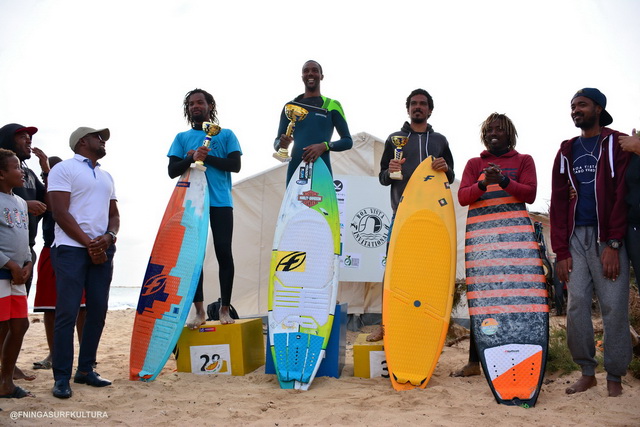
[[[184,327],[200,278],[209,230],[204,171],[178,180],[160,223],[131,336],[129,379],[155,379]]]

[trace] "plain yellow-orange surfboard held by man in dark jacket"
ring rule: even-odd
[[[391,384],[425,388],[449,328],[456,222],[449,182],[429,157],[413,172],[393,223],[382,321]]]

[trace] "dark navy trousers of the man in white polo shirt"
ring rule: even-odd
[[[62,245],[51,249],[57,295],[53,332],[53,377],[56,381],[71,379],[73,334],[83,290],[87,317],[78,355],[78,370],[93,371],[109,306],[115,251],[115,245],[111,245],[107,250],[107,261],[97,265],[91,262],[86,248]]]

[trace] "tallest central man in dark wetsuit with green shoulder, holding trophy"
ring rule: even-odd
[[[335,99],[320,94],[322,79],[324,79],[324,74],[322,74],[322,66],[318,62],[309,60],[304,63],[302,66],[304,93],[287,104],[298,105],[307,110],[309,114],[304,120],[298,122],[293,136],[285,134],[289,119],[285,115],[284,108],[280,114],[278,137],[274,141],[274,148],[276,151],[280,148],[288,148],[295,138],[291,161],[287,169],[287,184],[298,169],[300,162],[315,162],[318,157],[321,157],[331,171],[329,152],[346,151],[353,146],[342,105]],[[334,128],[338,131],[340,139],[331,141]]]

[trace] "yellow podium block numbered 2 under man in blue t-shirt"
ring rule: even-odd
[[[264,365],[262,319],[237,319],[223,325],[206,322],[184,328],[178,340],[178,372],[202,375],[245,375]]]

